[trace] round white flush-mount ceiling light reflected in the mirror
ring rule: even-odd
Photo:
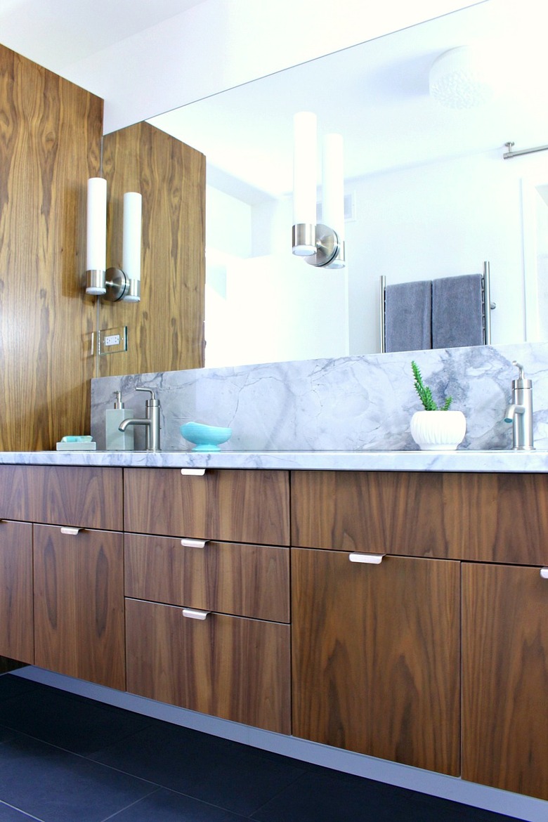
[[[495,97],[497,68],[484,48],[459,46],[440,54],[430,70],[430,93],[449,109],[472,109]]]

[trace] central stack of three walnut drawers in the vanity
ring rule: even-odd
[[[283,471],[127,469],[127,690],[291,732],[288,496]]]

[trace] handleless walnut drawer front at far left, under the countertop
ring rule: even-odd
[[[122,469],[0,466],[0,519],[122,530]]]

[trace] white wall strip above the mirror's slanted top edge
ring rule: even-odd
[[[408,25],[463,0],[204,0],[61,70],[105,100],[115,131]]]

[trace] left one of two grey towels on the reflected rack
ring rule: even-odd
[[[385,288],[386,351],[432,347],[432,284],[398,283]]]

